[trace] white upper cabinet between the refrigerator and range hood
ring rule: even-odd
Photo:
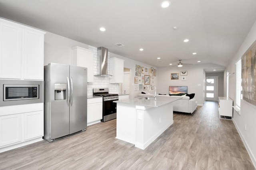
[[[87,82],[93,82],[93,51],[82,47],[73,47],[72,65],[86,67]]]

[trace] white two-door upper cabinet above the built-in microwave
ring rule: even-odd
[[[44,34],[0,18],[0,78],[44,80]]]

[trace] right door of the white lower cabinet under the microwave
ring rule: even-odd
[[[24,140],[44,136],[44,111],[24,113]]]

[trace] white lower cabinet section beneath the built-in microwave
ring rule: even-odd
[[[0,107],[0,152],[42,141],[44,103]]]

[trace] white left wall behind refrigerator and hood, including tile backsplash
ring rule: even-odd
[[[56,35],[54,33],[50,33],[46,31],[46,35],[44,37],[44,65],[48,63],[61,63],[61,64],[72,64],[72,47],[79,46],[94,52],[94,75],[99,74],[98,64],[100,64],[100,60],[97,56],[97,48],[80,43],[78,41],[74,41],[72,39],[68,39],[66,37],[62,37],[60,35]],[[114,53],[108,52],[108,61],[112,57],[117,57],[124,60],[124,67],[131,69],[131,84],[130,84],[130,97],[134,98],[137,94],[141,93],[141,91],[134,91],[134,70],[135,64],[139,64],[141,66],[147,66],[149,69],[152,67],[150,65],[140,63],[126,57],[122,57],[120,55],[116,55]],[[108,72],[109,72],[109,63],[108,62]],[[154,67],[155,68],[155,67]],[[155,68],[156,69],[156,68]],[[152,79],[151,84],[157,84],[157,76]],[[88,83],[88,96],[92,95],[93,88],[100,87],[108,87],[110,93],[119,93],[119,84],[110,84],[109,77],[97,77],[94,76],[94,82]],[[149,92],[149,91],[143,91]],[[153,92],[151,92],[153,93]]]

